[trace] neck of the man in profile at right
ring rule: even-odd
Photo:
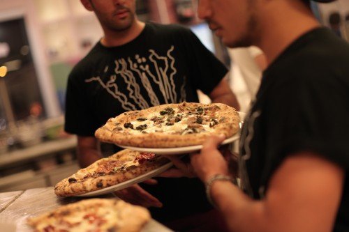
[[[278,4],[278,1],[272,2]],[[264,19],[260,21],[263,22],[260,25],[260,40],[256,42],[256,45],[265,52],[268,65],[297,38],[320,26],[310,9],[301,2],[279,1],[279,6],[276,4],[260,15]]]

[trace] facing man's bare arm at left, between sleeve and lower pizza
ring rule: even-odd
[[[102,157],[98,150],[98,140],[95,137],[77,136],[77,160],[80,167],[87,167]]]

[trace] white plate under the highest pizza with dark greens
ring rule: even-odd
[[[240,137],[239,132],[237,132],[237,134],[235,134],[234,136],[228,139],[225,139],[221,145],[230,144],[233,141],[236,141],[237,139],[239,139],[239,137]],[[117,145],[117,146],[120,146],[121,148],[137,150],[137,151],[146,152],[146,153],[155,153],[158,155],[180,155],[180,154],[186,154],[186,153],[193,153],[194,151],[202,149],[202,145],[184,146],[181,148],[139,148],[136,146],[121,146],[121,145]]]

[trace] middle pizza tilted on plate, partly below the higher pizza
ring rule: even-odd
[[[97,160],[54,186],[57,196],[77,196],[123,183],[170,162],[154,153],[121,150],[110,157]]]

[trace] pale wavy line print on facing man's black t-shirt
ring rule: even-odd
[[[165,104],[183,102],[186,100],[186,78],[182,77],[181,86],[176,86],[174,75],[177,74],[177,68],[174,66],[175,59],[171,54],[173,51],[174,46],[171,46],[166,55],[161,56],[154,49],[149,49],[147,58],[135,54],[134,59],[130,57],[117,59],[114,61],[114,72],[109,79],[103,80],[97,76],[86,79],[85,83],[98,82],[107,93],[121,103],[121,107],[126,111],[147,109],[161,105],[161,102]],[[110,67],[106,66],[104,73],[109,69]],[[120,82],[126,84],[126,89],[121,91],[118,88]],[[145,89],[147,96],[142,95],[141,88]],[[158,92],[161,93],[160,96],[156,94]],[[161,97],[162,100],[159,100]],[[147,102],[147,98],[150,102]]]

